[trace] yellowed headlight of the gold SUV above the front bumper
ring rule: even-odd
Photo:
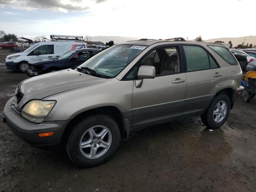
[[[22,108],[21,116],[31,122],[41,123],[55,104],[56,101],[32,100]]]

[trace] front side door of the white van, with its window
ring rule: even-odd
[[[41,45],[34,49],[28,56],[33,56],[33,61],[42,59],[52,59],[54,56],[54,46],[53,44]]]

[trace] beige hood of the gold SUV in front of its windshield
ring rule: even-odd
[[[26,79],[19,83],[19,89],[24,94],[17,106],[20,108],[29,100],[42,99],[47,96],[99,84],[108,79],[84,74],[72,69],[60,70]]]

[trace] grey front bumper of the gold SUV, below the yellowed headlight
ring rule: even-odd
[[[14,97],[10,98],[3,111],[3,120],[7,123],[10,130],[20,139],[26,141],[33,146],[57,146],[60,144],[62,134],[69,122],[52,121],[42,122],[40,124],[29,122],[24,119],[14,107]],[[54,132],[52,136],[39,137],[38,134],[45,132]]]

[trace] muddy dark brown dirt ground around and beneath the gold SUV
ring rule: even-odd
[[[5,69],[6,54],[0,50],[0,112],[28,78]],[[60,149],[26,144],[0,120],[0,192],[255,192],[255,115],[256,99],[240,99],[218,130],[198,117],[152,126],[120,142],[109,162],[88,169]]]

